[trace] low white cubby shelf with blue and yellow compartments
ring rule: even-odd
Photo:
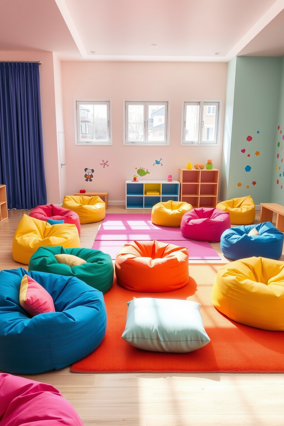
[[[126,209],[152,209],[160,201],[179,201],[179,186],[179,181],[126,181]]]

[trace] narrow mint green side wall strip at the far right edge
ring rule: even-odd
[[[279,130],[278,130],[279,126]],[[282,130],[282,133],[280,133]],[[284,205],[284,56],[281,58],[280,82],[278,92],[278,105],[275,122],[275,137],[273,146],[272,169],[270,179],[270,203]],[[279,147],[278,147],[279,144]],[[278,158],[277,155],[279,154]],[[284,161],[284,160],[283,160]],[[277,170],[276,170],[277,167]],[[281,175],[281,176],[280,176]],[[277,184],[278,181],[278,184]],[[282,186],[282,189],[281,189]]]

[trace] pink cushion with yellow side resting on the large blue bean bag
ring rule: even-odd
[[[32,317],[44,312],[55,312],[52,296],[29,275],[24,275],[20,285],[20,305]]]

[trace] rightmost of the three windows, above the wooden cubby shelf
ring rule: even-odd
[[[181,145],[217,145],[220,101],[184,101]]]

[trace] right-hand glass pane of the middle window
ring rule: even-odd
[[[149,105],[148,141],[164,142],[164,140],[165,140],[165,105]]]

